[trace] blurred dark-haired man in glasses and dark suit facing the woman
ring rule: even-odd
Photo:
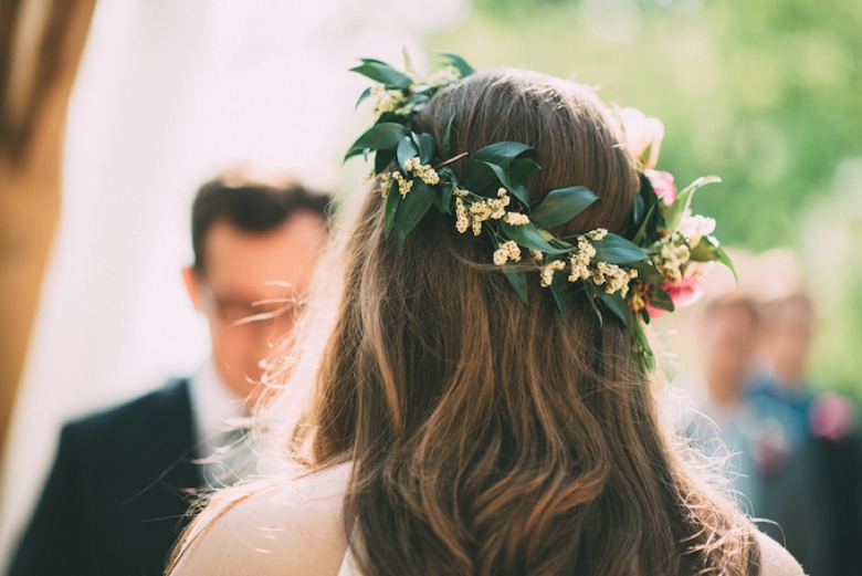
[[[292,329],[327,241],[328,202],[239,174],[201,187],[182,277],[212,354],[191,378],[64,427],[10,575],[164,573],[188,492],[250,470],[241,450],[244,462],[206,459],[238,443],[235,422],[261,397],[262,360]]]

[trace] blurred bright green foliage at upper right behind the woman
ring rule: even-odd
[[[725,244],[803,254],[827,328],[816,373],[862,392],[862,1],[474,0],[428,46],[576,78],[661,118],[660,169],[679,186],[724,180],[694,210]],[[827,252],[840,274],[817,269]]]

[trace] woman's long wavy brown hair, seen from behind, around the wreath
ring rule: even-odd
[[[442,142],[450,122],[453,157],[532,146],[533,201],[574,185],[600,197],[560,234],[630,223],[634,160],[589,88],[479,73],[435,94],[414,129]],[[345,511],[362,573],[749,574],[747,524],[667,449],[630,329],[578,291],[565,317],[538,282],[525,305],[490,242],[451,216],[429,211],[399,251],[379,192],[349,230],[297,429],[314,465],[354,462]]]

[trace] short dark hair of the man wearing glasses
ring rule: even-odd
[[[275,230],[298,212],[312,212],[328,223],[330,202],[329,196],[312,192],[299,185],[232,185],[222,177],[216,178],[201,186],[191,207],[195,270],[203,272],[207,232],[219,220],[244,232],[262,234]]]

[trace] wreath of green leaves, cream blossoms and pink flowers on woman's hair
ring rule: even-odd
[[[582,186],[551,190],[542,202],[530,202],[524,187],[539,166],[525,154],[532,148],[516,142],[486,146],[466,161],[461,179],[450,168],[467,156],[452,156],[452,121],[438,145],[430,134],[412,130],[414,115],[441,88],[473,73],[455,54],[442,54],[445,65],[421,80],[406,57],[406,72],[379,60],[364,59],[351,69],[380,86],[367,88],[357,106],[375,98],[377,122],[345,156],[375,153],[374,171],[386,199],[383,228],[400,251],[404,239],[432,208],[454,214],[460,233],[485,233],[494,245],[493,262],[502,268],[517,294],[527,303],[527,274],[522,261],[528,252],[543,287],[565,316],[569,286],[584,290],[599,320],[610,311],[635,334],[633,353],[642,370],[655,370],[644,326],[652,317],[696,301],[703,293],[698,276],[705,263],[719,261],[733,271],[727,254],[709,234],[715,220],[691,213],[694,191],[708,176],[676,192],[673,176],[653,168],[664,128],[634,108],[618,111],[626,146],[643,166],[634,199],[633,224],[621,234],[599,228],[584,234],[556,238],[547,229],[586,210],[599,198]],[[734,272],[735,273],[735,272]]]

